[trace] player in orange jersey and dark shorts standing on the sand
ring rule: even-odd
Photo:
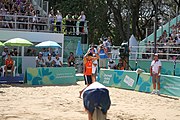
[[[83,73],[85,85],[87,85],[84,89],[86,89],[90,84],[92,84],[92,64],[93,61],[97,59],[99,59],[99,55],[96,54],[95,57],[93,57],[93,54],[90,52],[86,53],[86,55],[84,56]],[[80,97],[84,89],[79,92]]]

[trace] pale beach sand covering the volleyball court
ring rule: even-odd
[[[87,120],[79,91],[83,81],[69,86],[0,85],[0,120]],[[109,120],[180,120],[180,100],[118,88],[108,88]]]

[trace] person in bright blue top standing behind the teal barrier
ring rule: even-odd
[[[107,50],[104,47],[104,45],[101,45],[100,48],[98,49],[98,54],[99,54],[99,67],[100,68],[106,68],[106,59],[107,57]]]

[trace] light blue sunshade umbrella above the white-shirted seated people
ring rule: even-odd
[[[44,41],[41,42],[37,45],[35,45],[35,47],[40,47],[40,48],[62,48],[57,42],[54,41]]]

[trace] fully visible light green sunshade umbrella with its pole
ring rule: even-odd
[[[13,39],[9,39],[6,42],[4,42],[4,45],[6,45],[6,46],[17,46],[18,52],[19,52],[19,46],[31,46],[31,45],[33,45],[33,43],[31,43],[30,41],[28,41],[26,39],[13,38]],[[18,56],[17,56],[17,75],[19,75],[19,73],[18,73]]]

